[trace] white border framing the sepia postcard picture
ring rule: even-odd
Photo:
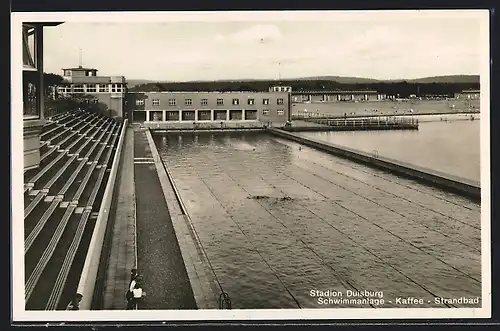
[[[24,209],[23,209],[23,119],[21,22],[215,22],[221,20],[321,21],[407,20],[423,17],[464,17],[481,21],[481,262],[482,308],[379,308],[379,309],[262,309],[262,310],[140,310],[140,311],[26,311],[24,308]],[[254,12],[47,12],[11,14],[11,201],[12,201],[12,320],[50,321],[230,321],[310,319],[441,319],[491,317],[491,206],[490,206],[490,52],[487,10],[419,11],[254,11]]]

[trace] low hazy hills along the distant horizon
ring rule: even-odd
[[[273,81],[274,79],[219,79],[219,80],[196,80],[196,81],[185,81],[185,83],[207,83],[207,82],[218,82],[218,83],[234,83],[234,82],[263,82],[263,81]],[[413,84],[467,84],[474,83],[479,84],[479,75],[448,75],[448,76],[433,76],[433,77],[423,77],[416,79],[373,79],[373,78],[363,78],[363,77],[342,77],[342,76],[311,76],[311,77],[298,77],[298,78],[285,78],[283,81],[332,81],[339,84],[373,84],[373,83],[398,83],[406,81]],[[274,80],[277,81],[277,80]],[[132,88],[137,85],[157,83],[154,80],[147,79],[130,79],[127,80],[128,87]],[[173,81],[160,81],[159,83],[183,83],[183,82],[173,82]]]

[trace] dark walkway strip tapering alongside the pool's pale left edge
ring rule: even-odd
[[[134,138],[138,268],[147,293],[142,308],[196,309],[146,131],[136,129]]]

